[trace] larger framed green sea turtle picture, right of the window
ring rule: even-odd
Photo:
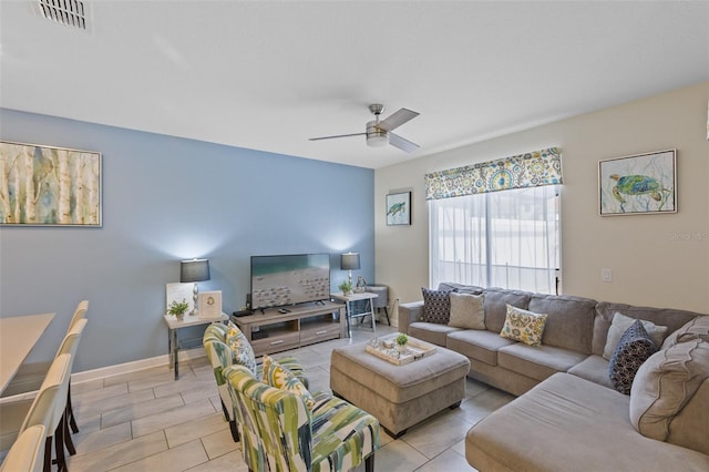
[[[677,213],[677,150],[598,163],[600,216]]]

